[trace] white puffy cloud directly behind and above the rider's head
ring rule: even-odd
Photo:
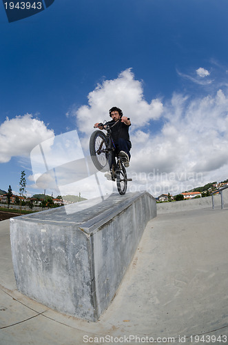
[[[108,110],[118,106],[134,126],[144,126],[159,119],[163,112],[160,99],[147,102],[143,85],[134,77],[131,68],[124,70],[116,79],[105,80],[88,95],[88,105],[76,110],[77,126],[81,132],[90,133],[92,124],[108,119]]]

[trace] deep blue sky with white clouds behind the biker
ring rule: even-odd
[[[132,191],[227,179],[227,12],[224,0],[55,0],[8,23],[0,6],[0,188],[18,193],[25,170],[28,195],[40,191],[32,148],[76,130],[86,151],[115,105],[132,119]]]

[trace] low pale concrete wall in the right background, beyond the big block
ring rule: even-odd
[[[223,198],[225,204],[228,204],[228,188],[223,190]],[[221,208],[221,197],[220,195],[214,195],[214,202],[216,208]],[[172,201],[172,202],[162,202],[157,204],[157,213],[162,215],[164,213],[174,213],[178,211],[186,210],[197,210],[199,208],[211,207],[212,209],[212,199],[211,197],[200,197],[197,199],[189,199],[182,201]]]

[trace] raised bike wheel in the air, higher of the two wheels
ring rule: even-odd
[[[112,152],[107,150],[108,143],[105,133],[95,130],[90,137],[90,155],[94,166],[104,172],[110,169]]]

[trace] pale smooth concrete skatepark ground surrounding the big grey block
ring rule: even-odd
[[[228,204],[158,213],[98,322],[17,291],[10,221],[1,221],[0,344],[227,344],[227,219]]]

